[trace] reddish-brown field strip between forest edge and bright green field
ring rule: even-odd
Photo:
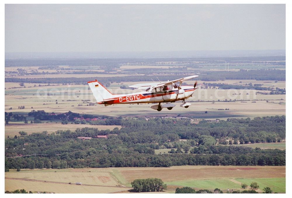
[[[163,181],[218,178],[281,178],[286,176],[286,167],[272,166],[173,166],[170,168],[129,167],[117,169],[129,183],[134,179],[148,178],[150,175],[154,178],[160,178]]]

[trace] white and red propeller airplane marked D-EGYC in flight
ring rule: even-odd
[[[182,86],[182,83],[185,80],[190,80],[196,77],[198,76],[188,76],[185,78],[159,83],[140,83],[131,85],[128,87],[144,90],[131,94],[112,94],[97,80],[89,81],[87,83],[96,99],[95,103],[97,104],[109,106],[115,104],[158,103],[157,105],[151,106],[151,108],[161,111],[162,108],[171,110],[175,107],[175,104],[172,103],[179,100],[183,101],[183,104],[181,104],[180,107],[188,108],[191,104],[186,103],[185,99],[191,97],[197,89],[197,81],[194,83],[194,86]]]

